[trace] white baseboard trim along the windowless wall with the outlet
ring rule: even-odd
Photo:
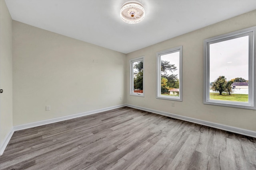
[[[68,115],[68,116],[63,116],[63,117],[56,117],[56,118],[53,118],[53,119],[36,121],[36,122],[32,122],[32,123],[27,123],[27,124],[23,124],[23,125],[14,126],[13,129],[14,129],[14,131],[19,131],[19,130],[28,129],[28,128],[31,128],[31,127],[37,127],[37,126],[47,125],[47,124],[50,124],[50,123],[56,123],[56,122],[59,122],[59,121],[74,119],[74,118],[82,117],[82,116],[86,116],[86,115],[92,115],[92,114],[95,114],[95,113],[100,113],[102,111],[117,109],[117,108],[124,107],[124,106],[126,106],[126,105],[122,104],[122,105],[118,105],[118,106],[106,107],[106,108],[103,108],[103,109],[97,109],[97,110],[92,110],[92,111],[86,111],[86,112],[83,112],[83,113],[77,113],[77,114],[74,114],[74,115]]]

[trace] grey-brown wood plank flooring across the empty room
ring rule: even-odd
[[[256,170],[256,139],[122,107],[14,132],[1,170]]]

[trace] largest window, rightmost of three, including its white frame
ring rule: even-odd
[[[256,109],[255,28],[204,40],[204,104]]]

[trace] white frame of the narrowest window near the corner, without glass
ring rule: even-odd
[[[143,93],[134,93],[134,68],[133,63],[142,61],[143,62]],[[130,60],[130,95],[144,97],[144,56]]]

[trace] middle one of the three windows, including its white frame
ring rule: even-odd
[[[158,99],[182,101],[182,46],[157,53]]]

